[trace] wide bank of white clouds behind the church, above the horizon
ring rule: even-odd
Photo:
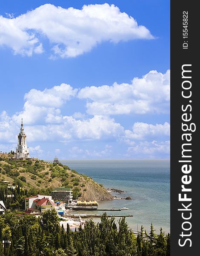
[[[71,98],[77,102],[80,98],[87,98],[93,101],[88,104],[94,104],[94,106],[99,104],[100,111],[98,112],[93,106],[93,116],[84,113],[83,108],[82,113],[75,112],[72,116],[63,115],[62,111],[65,111],[65,105],[70,104],[67,101]],[[101,149],[91,147],[83,149],[77,144],[91,141],[92,145],[92,141],[97,141],[98,145],[98,141],[101,141],[101,143],[112,142],[119,147],[122,146],[121,150],[124,151],[129,147],[125,157],[169,157],[170,125],[168,122],[163,124],[135,122],[132,129],[126,129],[109,116],[111,113],[132,114],[143,113],[142,111],[154,113],[158,110],[165,113],[167,111],[165,104],[169,105],[169,71],[166,74],[151,71],[142,79],[133,79],[132,84],[114,83],[113,86],[85,87],[79,90],[79,93],[78,89],[73,89],[69,84],[61,84],[43,91],[32,89],[25,94],[24,99],[23,111],[13,116],[9,116],[6,111],[0,113],[0,143],[5,144],[6,150],[10,151],[11,143],[12,145],[15,143],[16,146],[23,117],[29,146],[33,142],[61,143],[57,145],[59,148],[55,149],[55,152],[59,153],[60,147],[61,151],[63,147],[71,147],[70,157],[86,158],[107,157],[113,154],[113,149],[118,150],[110,148],[109,145]],[[146,108],[137,107],[138,102]],[[117,104],[121,106],[118,109]],[[108,108],[109,105],[111,108]],[[102,106],[105,106],[105,109]],[[117,111],[116,109],[114,111],[114,108]],[[150,112],[145,112],[146,109],[150,109]],[[89,109],[87,111],[89,112]],[[30,147],[30,151],[31,155],[47,157],[40,145]]]

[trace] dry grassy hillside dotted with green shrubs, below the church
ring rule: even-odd
[[[101,185],[86,175],[61,163],[48,163],[43,160],[0,161],[0,180],[7,180],[27,191],[51,191],[65,186],[73,190],[74,198],[82,200],[110,200],[113,197]]]

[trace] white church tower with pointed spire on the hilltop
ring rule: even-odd
[[[23,160],[29,158],[30,156],[29,148],[27,147],[27,143],[26,143],[26,134],[24,133],[24,129],[23,129],[23,118],[22,118],[20,133],[18,135],[17,148],[14,156],[16,159],[23,159]]]

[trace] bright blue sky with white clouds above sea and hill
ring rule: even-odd
[[[0,91],[0,151],[169,158],[170,1],[1,1]]]

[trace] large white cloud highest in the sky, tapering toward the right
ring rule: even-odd
[[[133,17],[107,3],[85,5],[81,10],[44,4],[16,18],[0,18],[0,44],[10,47],[14,54],[28,56],[44,51],[43,38],[52,45],[51,58],[75,57],[103,41],[154,38]]]

